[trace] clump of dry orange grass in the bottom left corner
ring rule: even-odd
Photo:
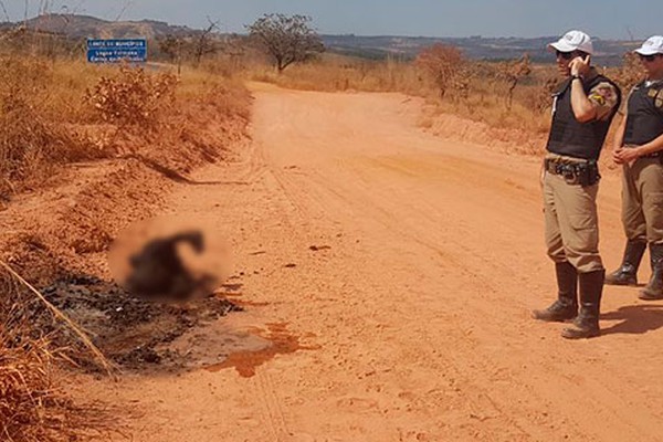
[[[0,440],[69,442],[104,439],[120,427],[109,409],[75,403],[61,386],[62,348],[40,336],[27,312],[35,302],[0,274]]]

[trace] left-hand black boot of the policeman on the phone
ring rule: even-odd
[[[564,322],[578,314],[578,272],[569,262],[555,263],[558,295],[548,308],[533,311],[532,317],[546,322]]]

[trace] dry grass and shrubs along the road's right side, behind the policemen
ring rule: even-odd
[[[624,56],[607,72],[624,93],[642,76],[638,59]],[[415,60],[360,60],[335,54],[293,65],[282,73],[252,65],[246,75],[283,87],[312,91],[400,92],[425,98],[421,126],[434,131],[440,120],[464,118],[495,129],[502,141],[525,143],[539,152],[550,124],[551,93],[560,82],[556,66],[533,64],[527,54],[503,62],[471,61],[453,46],[435,44]],[[512,131],[509,131],[512,130]]]

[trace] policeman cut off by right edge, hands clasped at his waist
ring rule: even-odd
[[[652,276],[642,299],[663,299],[663,36],[636,49],[646,78],[629,94],[627,116],[612,158],[622,165],[622,222],[627,248],[621,266],[607,284],[636,285],[638,267],[649,243]]]

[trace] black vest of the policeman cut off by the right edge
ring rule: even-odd
[[[633,87],[628,112],[625,145],[644,145],[663,135],[663,82]]]

